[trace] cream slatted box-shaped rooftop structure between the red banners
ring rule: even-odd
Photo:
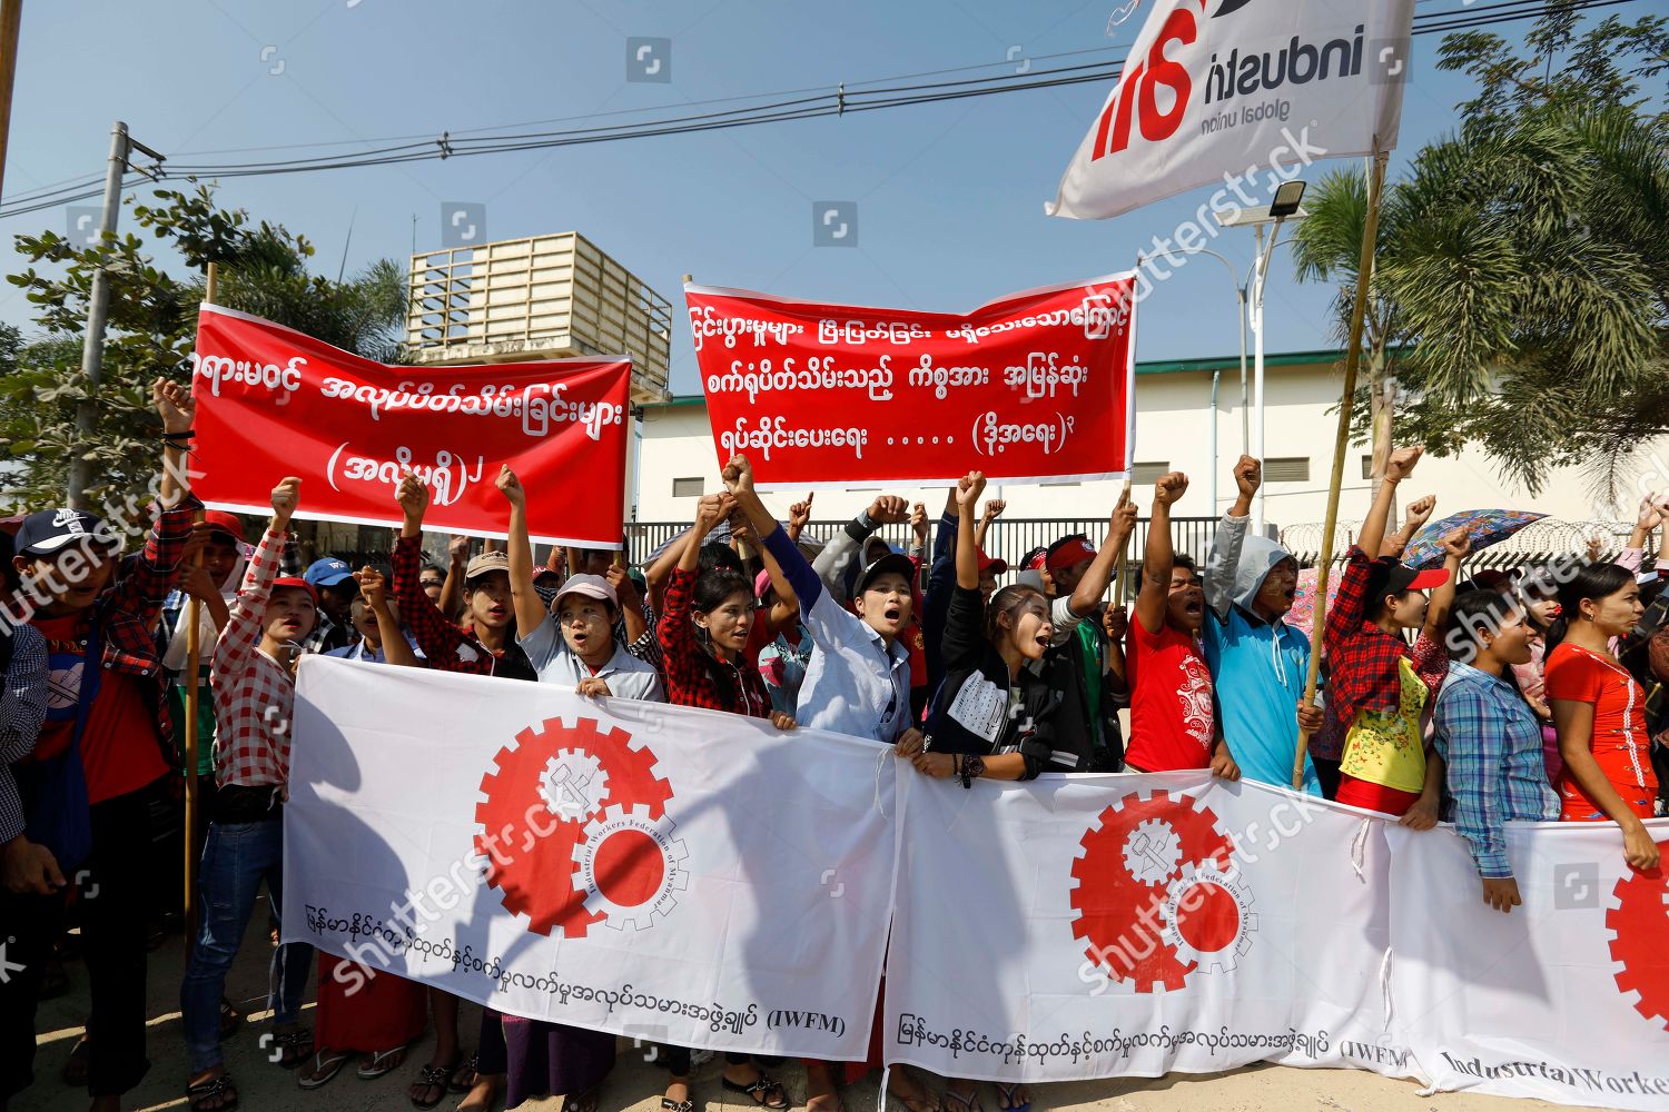
[[[633,402],[664,402],[673,305],[577,232],[412,255],[417,363],[631,355]]]

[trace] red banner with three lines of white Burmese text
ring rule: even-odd
[[[971,313],[686,285],[719,460],[759,485],[1123,478],[1135,420],[1135,273]]]

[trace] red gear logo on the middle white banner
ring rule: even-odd
[[[1250,947],[1257,915],[1233,842],[1192,795],[1125,795],[1078,847],[1071,935],[1108,977],[1175,992],[1202,965],[1233,969]]]

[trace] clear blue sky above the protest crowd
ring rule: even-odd
[[[53,0],[23,12],[5,193],[95,173],[108,128],[175,162],[242,162],[285,143],[439,135],[741,93],[833,88],[975,63],[1123,47],[1150,5],[1108,35],[1123,0]],[[1460,0],[1424,0],[1464,12]],[[1651,7],[1651,5],[1646,5]],[[1624,8],[1624,15],[1642,13]],[[1522,33],[1524,23],[1504,28]],[[671,40],[671,82],[626,80],[626,38]],[[1415,38],[1392,163],[1454,127],[1469,82]],[[1043,68],[1122,52],[1031,65]],[[978,77],[1001,68],[946,75]],[[923,78],[938,80],[938,78]],[[1105,85],[906,107],[729,132],[235,178],[219,200],[305,233],[335,273],[402,265],[441,245],[444,202],[486,205],[487,237],[579,230],[674,303],[673,387],[696,390],[679,280],[816,300],[961,310],[1035,285],[1123,270],[1205,193],[1112,222],[1043,215]],[[633,117],[621,117],[629,120]],[[349,150],[344,147],[342,150]],[[312,153],[312,152],[304,152]],[[1360,162],[1319,163],[1320,170]],[[813,203],[856,202],[858,247],[813,247]],[[97,202],[82,202],[97,203]],[[62,210],[0,220],[0,235],[63,228]],[[1248,230],[1213,245],[1242,265]],[[179,262],[160,255],[165,268]],[[13,265],[17,268],[17,265]],[[1330,290],[1298,287],[1285,252],[1268,285],[1270,352],[1325,347]],[[0,320],[28,330],[0,290]],[[1142,307],[1138,358],[1233,353],[1228,273],[1200,258]]]

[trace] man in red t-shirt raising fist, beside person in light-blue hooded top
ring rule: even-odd
[[[1142,592],[1130,622],[1127,680],[1130,684],[1132,772],[1210,769],[1238,780],[1228,745],[1217,737],[1212,674],[1200,654],[1205,590],[1200,572],[1170,540],[1170,507],[1188,490],[1182,472],[1162,475],[1153,487],[1153,518],[1142,560]]]

